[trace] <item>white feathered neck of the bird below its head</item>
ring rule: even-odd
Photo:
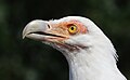
[[[87,49],[67,53],[69,80],[126,80],[116,66],[114,55],[112,52],[106,54],[106,50]]]

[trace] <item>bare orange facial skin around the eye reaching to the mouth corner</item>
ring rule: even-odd
[[[47,32],[61,37],[50,37],[48,38],[48,41],[63,42],[64,40],[69,39],[70,36],[88,32],[87,27],[78,21],[61,22],[58,24],[50,23],[49,25],[51,27],[49,30],[47,30]],[[77,27],[77,31],[75,34],[68,31],[68,28],[72,25],[75,25]]]

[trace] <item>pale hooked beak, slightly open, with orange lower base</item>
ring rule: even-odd
[[[53,31],[48,22],[36,19],[28,23],[23,30],[23,39],[30,38],[40,41],[57,42],[63,41],[66,37],[57,31]]]

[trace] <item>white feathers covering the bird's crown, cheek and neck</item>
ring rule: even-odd
[[[88,49],[63,53],[69,64],[70,80],[127,80],[116,65],[117,54],[110,40],[90,19],[79,16],[67,16],[53,23],[76,19],[89,30],[86,35],[72,36],[65,42],[82,44]],[[52,22],[51,22],[52,23]]]

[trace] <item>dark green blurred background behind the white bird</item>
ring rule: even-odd
[[[0,0],[0,80],[68,80],[61,52],[22,39],[28,22],[67,15],[86,16],[100,26],[117,50],[118,68],[130,80],[130,0]]]

